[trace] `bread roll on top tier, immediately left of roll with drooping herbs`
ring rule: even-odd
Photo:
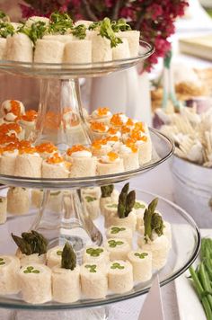
[[[92,62],[92,41],[73,40],[67,42],[64,50],[64,62],[70,64]]]

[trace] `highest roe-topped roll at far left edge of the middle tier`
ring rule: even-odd
[[[0,110],[5,121],[18,120],[25,112],[24,105],[18,100],[5,100]]]

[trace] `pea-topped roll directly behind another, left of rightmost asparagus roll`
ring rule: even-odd
[[[110,238],[125,239],[126,241],[128,241],[128,244],[130,246],[132,246],[133,233],[132,233],[132,229],[130,227],[110,226],[106,230],[106,236],[108,239],[110,239]]]

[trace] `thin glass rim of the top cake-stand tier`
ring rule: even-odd
[[[71,71],[71,70],[84,70],[85,69],[96,69],[101,67],[119,67],[121,65],[125,65],[128,63],[137,62],[138,60],[142,58],[148,58],[151,54],[155,52],[155,47],[152,46],[150,43],[146,42],[145,40],[139,40],[139,44],[142,47],[142,49],[146,49],[145,52],[142,52],[141,48],[139,49],[139,53],[136,57],[130,57],[130,58],[122,58],[122,59],[114,59],[110,61],[103,61],[103,62],[92,62],[92,63],[40,63],[40,62],[25,62],[25,61],[13,61],[13,60],[1,60],[0,59],[0,68],[6,68],[9,69],[11,67],[28,67],[31,69],[41,69],[45,70],[45,67],[47,67],[47,70],[51,70],[50,67],[53,68],[54,71],[58,70],[64,70]],[[143,46],[142,46],[143,45]],[[63,67],[65,67],[63,69]]]

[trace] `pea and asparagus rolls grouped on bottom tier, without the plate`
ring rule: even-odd
[[[144,211],[144,228],[135,231],[137,221],[134,227],[123,227],[124,215],[129,214],[138,202],[143,202],[136,200],[136,192],[128,192],[128,188],[127,183],[119,192],[114,213],[118,216],[121,211],[123,217],[118,217],[117,225],[110,225],[105,230],[106,237],[101,246],[87,245],[84,248],[82,260],[68,242],[48,249],[48,240],[39,232],[22,232],[21,236],[12,234],[18,249],[14,255],[0,257],[0,274],[4,274],[0,283],[2,292],[7,295],[21,291],[25,302],[36,305],[51,300],[73,303],[84,298],[106,298],[110,292],[122,294],[133,289],[138,282],[151,280],[153,272],[167,262],[172,245],[167,247],[164,243],[169,244],[172,240],[164,232],[165,221],[157,213],[157,199],[152,200]],[[96,188],[84,189],[82,193],[86,197],[89,191],[100,196]],[[102,195],[109,191],[110,194],[114,192],[112,186],[104,186]],[[107,210],[104,211],[104,218],[108,214]],[[171,227],[169,232],[172,233]]]

